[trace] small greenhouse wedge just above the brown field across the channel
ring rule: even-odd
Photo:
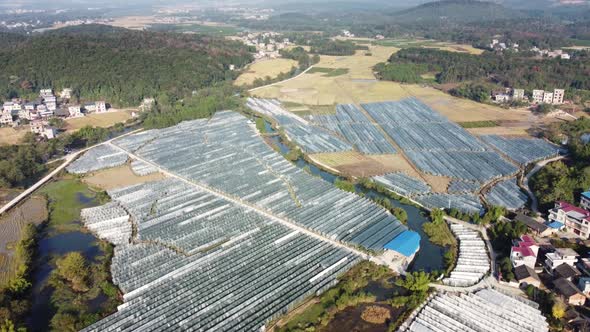
[[[355,105],[336,106],[335,115],[310,116],[314,123],[342,135],[364,154],[392,154],[395,148]]]

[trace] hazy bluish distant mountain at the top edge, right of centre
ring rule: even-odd
[[[536,0],[535,0],[536,1]],[[542,0],[540,0],[542,1]],[[500,4],[476,0],[444,0],[393,12],[398,22],[481,22],[526,16]]]

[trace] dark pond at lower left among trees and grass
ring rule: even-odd
[[[75,195],[83,207],[97,205],[94,197],[88,197],[82,192],[76,192]],[[72,220],[71,224],[82,227],[78,220]],[[48,330],[51,318],[55,314],[55,308],[51,304],[53,288],[48,285],[49,277],[55,269],[55,258],[74,251],[81,252],[89,262],[95,261],[96,257],[102,254],[97,239],[91,233],[60,233],[51,225],[43,230],[34,262],[31,316],[27,319],[31,331]],[[99,307],[104,301],[105,297],[99,296],[92,304]]]

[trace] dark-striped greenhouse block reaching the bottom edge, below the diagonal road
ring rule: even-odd
[[[119,246],[112,273],[125,303],[83,331],[260,331],[358,260],[276,223],[190,256],[150,242]]]

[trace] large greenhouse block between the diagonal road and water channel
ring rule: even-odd
[[[344,243],[380,251],[407,230],[370,200],[339,190],[288,162],[235,112],[218,112],[209,121],[160,130],[136,154],[184,179]],[[150,236],[155,237],[168,230],[153,232]]]

